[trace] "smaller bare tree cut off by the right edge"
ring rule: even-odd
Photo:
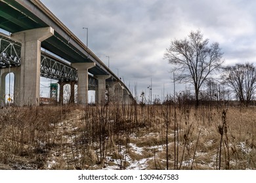
[[[249,105],[256,89],[256,68],[252,63],[228,66],[224,68],[224,82],[232,88],[240,102]]]

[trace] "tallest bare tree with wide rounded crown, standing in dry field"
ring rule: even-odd
[[[213,71],[221,68],[223,53],[219,43],[209,44],[209,39],[203,39],[200,30],[191,31],[188,39],[171,41],[164,58],[173,66],[176,80],[190,82],[194,85],[196,106],[199,105],[200,88]]]

